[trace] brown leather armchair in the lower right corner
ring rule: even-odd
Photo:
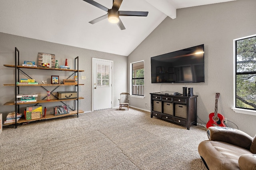
[[[256,136],[228,127],[209,127],[198,145],[208,170],[256,170]]]

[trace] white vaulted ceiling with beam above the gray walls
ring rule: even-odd
[[[112,8],[112,0],[94,0]],[[176,10],[232,0],[123,0],[123,11],[148,11],[147,17],[120,16],[120,30],[107,19],[88,23],[106,14],[83,0],[1,0],[0,32],[84,49],[128,56]]]

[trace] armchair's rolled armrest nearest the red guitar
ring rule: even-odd
[[[238,129],[228,127],[209,127],[207,135],[211,141],[222,141],[250,150],[252,137]]]

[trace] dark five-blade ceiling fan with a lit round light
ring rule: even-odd
[[[121,30],[123,30],[123,29],[125,29],[125,27],[124,27],[124,24],[122,23],[122,21],[120,20],[119,16],[148,16],[148,12],[144,12],[144,11],[119,11],[119,8],[120,8],[123,0],[113,0],[113,6],[111,9],[108,9],[105,6],[99,4],[98,2],[95,2],[93,0],[84,0],[84,1],[108,12],[108,14],[90,21],[89,23],[91,23],[91,24],[97,23],[101,20],[108,18],[109,22],[117,23],[118,27]]]

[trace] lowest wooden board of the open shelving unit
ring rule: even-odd
[[[84,111],[82,110],[78,110],[78,113],[84,113]],[[46,115],[46,117],[42,117],[42,118],[39,118],[39,119],[32,119],[32,120],[26,120],[24,117],[22,117],[20,120],[17,121],[17,123],[26,123],[26,122],[32,122],[32,121],[37,121],[37,120],[46,120],[46,119],[54,119],[54,118],[57,118],[57,117],[64,117],[64,116],[68,116],[68,115],[75,115],[77,114],[77,111],[70,111],[68,114],[63,114],[63,115]],[[15,122],[12,122],[12,123],[6,123],[6,124],[3,124],[3,126],[7,126],[7,125],[12,125],[12,124],[15,124]]]

